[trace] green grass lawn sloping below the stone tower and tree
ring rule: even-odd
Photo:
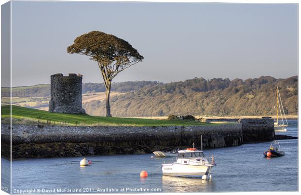
[[[127,126],[171,126],[171,125],[217,125],[207,124],[199,121],[191,120],[152,120],[152,119],[136,119],[123,117],[100,117],[90,116],[87,114],[61,114],[52,113],[43,110],[32,108],[12,106],[13,121],[18,121],[18,124],[37,124],[40,118],[40,123],[65,124],[65,125],[127,125]],[[1,106],[1,120],[9,120],[10,106]]]

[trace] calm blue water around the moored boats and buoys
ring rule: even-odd
[[[297,123],[297,120],[289,121],[288,131],[278,134],[298,136]],[[118,192],[124,189],[127,193],[137,189],[150,192],[297,191],[298,140],[279,142],[285,156],[270,160],[263,157],[270,142],[205,150],[207,156],[215,156],[217,163],[212,170],[212,180],[207,181],[163,176],[161,163],[172,159],[151,159],[151,154],[89,157],[93,164],[83,168],[79,166],[82,158],[75,157],[17,160],[12,163],[12,193],[18,194],[17,190],[36,190],[37,193],[39,189],[41,194],[43,189],[49,189],[53,194],[65,188],[81,189],[82,193],[109,193],[111,188]],[[9,161],[2,159],[2,165],[9,165]],[[140,179],[142,170],[147,171],[149,177]],[[2,175],[2,186],[7,183]]]

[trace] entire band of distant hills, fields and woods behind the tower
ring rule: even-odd
[[[284,112],[298,113],[298,77],[275,79],[194,78],[186,81],[159,83],[135,81],[114,83],[111,93],[113,116],[147,117],[169,114],[196,116],[275,115],[275,88],[279,86]],[[48,109],[50,85],[13,88],[13,104]],[[103,84],[83,84],[83,107],[90,115],[105,116]],[[2,95],[8,89],[2,88]],[[2,105],[9,98],[2,96]]]

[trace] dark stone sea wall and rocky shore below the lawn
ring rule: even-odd
[[[200,126],[37,126],[1,125],[1,153],[12,159],[146,154],[156,150],[238,146],[249,142],[292,139],[274,133],[269,120]],[[12,140],[10,140],[10,137]],[[12,142],[11,142],[12,141]]]

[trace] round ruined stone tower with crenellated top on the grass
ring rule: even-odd
[[[85,113],[82,108],[82,79],[81,74],[64,76],[62,73],[50,76],[49,111],[58,113]]]

